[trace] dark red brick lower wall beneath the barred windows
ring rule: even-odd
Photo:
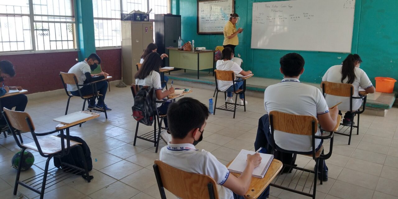
[[[121,79],[121,49],[97,51],[101,66],[112,80]],[[6,79],[6,86],[22,86],[28,94],[63,89],[59,72],[68,72],[77,63],[78,51],[0,55],[0,60],[14,64],[16,76]]]

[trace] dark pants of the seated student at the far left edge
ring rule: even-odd
[[[1,101],[1,109],[3,110],[3,107],[7,109],[12,109],[15,107],[15,111],[25,111],[26,104],[27,104],[27,97],[24,94],[18,94],[15,96],[10,96],[6,98],[0,98]],[[4,117],[1,117],[0,119],[0,125],[5,125],[6,120]]]

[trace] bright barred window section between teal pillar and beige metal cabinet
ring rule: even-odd
[[[93,0],[96,47],[120,46],[120,0]]]

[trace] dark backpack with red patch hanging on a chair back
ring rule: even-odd
[[[133,111],[133,117],[140,123],[152,126],[155,117],[154,111],[156,111],[156,95],[151,86],[145,88],[144,86],[138,86],[140,90],[134,97],[134,105],[131,107]]]

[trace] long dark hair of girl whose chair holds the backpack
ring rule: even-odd
[[[145,79],[152,70],[159,71],[162,65],[162,59],[158,53],[150,53],[141,65],[140,70],[135,74],[134,78],[143,80]]]

